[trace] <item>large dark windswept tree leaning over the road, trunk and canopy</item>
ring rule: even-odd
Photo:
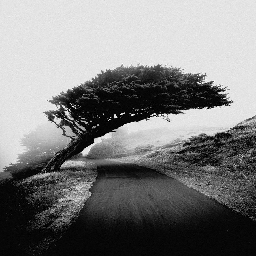
[[[44,112],[48,120],[63,130],[71,142],[57,152],[42,172],[57,171],[69,157],[80,153],[94,138],[124,124],[162,116],[180,114],[187,109],[228,106],[226,87],[204,82],[206,75],[184,73],[180,68],[123,65],[101,71],[66,93],[49,100],[57,110]],[[58,122],[57,120],[60,120]],[[70,127],[74,136],[66,134]]]

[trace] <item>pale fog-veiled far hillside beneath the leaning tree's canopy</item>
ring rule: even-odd
[[[221,127],[179,127],[176,129],[160,128],[148,129],[128,133],[124,128],[119,128],[111,138],[102,140],[94,145],[88,153],[88,158],[119,158],[129,155],[138,155],[153,150],[161,145],[172,143],[176,138],[186,139],[191,135],[202,132],[215,134],[225,131]]]

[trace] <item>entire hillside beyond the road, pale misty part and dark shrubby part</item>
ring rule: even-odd
[[[161,145],[160,140],[152,141],[152,130],[117,135],[95,145],[88,157],[119,158],[139,155],[141,159],[158,163],[187,163],[216,174],[256,180],[256,119],[248,119],[239,124],[243,125],[215,134],[194,135],[196,132],[186,131],[183,136],[164,145]],[[151,136],[150,140],[146,136]],[[168,136],[166,134],[167,138]],[[141,138],[145,140],[144,144],[140,144]]]

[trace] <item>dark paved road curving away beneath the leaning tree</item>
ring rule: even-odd
[[[175,179],[93,161],[81,214],[49,255],[255,255],[255,222]]]

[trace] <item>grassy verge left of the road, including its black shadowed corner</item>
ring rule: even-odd
[[[91,162],[69,160],[59,172],[1,181],[2,251],[6,255],[41,255],[48,249],[90,196],[96,170]]]

